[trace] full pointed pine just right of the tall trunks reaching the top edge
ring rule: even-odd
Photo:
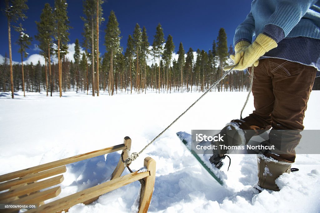
[[[105,35],[105,45],[110,55],[110,74],[109,74],[109,94],[113,95],[114,92],[114,76],[113,76],[113,58],[122,51],[120,47],[120,29],[119,23],[117,21],[114,11],[110,12],[109,20],[107,23],[106,35]],[[110,91],[111,89],[111,91]]]

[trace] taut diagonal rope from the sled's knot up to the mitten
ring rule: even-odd
[[[236,64],[237,65],[237,64]],[[207,90],[205,91],[205,93],[203,95],[201,95],[200,98],[198,98],[198,100],[196,100],[193,104],[191,104],[191,106],[188,107],[187,110],[185,110],[178,118],[176,118],[167,128],[164,129],[164,131],[162,131],[160,134],[158,134],[158,136],[156,136],[150,143],[147,144],[147,146],[145,146],[139,153],[133,152],[130,156],[127,157],[127,159],[125,159],[125,165],[131,164],[132,161],[134,161],[135,159],[137,159],[137,157],[139,157],[139,155],[146,149],[148,148],[148,146],[150,146],[154,141],[156,141],[156,139],[158,139],[167,129],[169,129],[179,118],[181,118],[188,110],[190,110],[191,107],[193,107],[201,98],[203,98],[204,95],[206,95],[208,92],[210,92],[212,90],[213,87],[217,86],[217,84],[220,83],[221,80],[223,80],[231,71],[233,68],[235,68],[234,65],[228,72],[225,72],[221,78],[219,80],[217,80],[216,82],[214,82],[214,84]]]

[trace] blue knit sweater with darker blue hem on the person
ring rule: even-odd
[[[320,0],[253,0],[234,43],[251,43],[260,33],[278,43],[262,58],[282,58],[320,71]]]

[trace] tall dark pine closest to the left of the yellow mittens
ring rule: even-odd
[[[228,56],[227,34],[224,28],[220,28],[219,35],[217,38],[217,56],[219,56],[220,71],[221,71],[220,77],[222,77],[223,63],[225,62],[226,57]],[[222,91],[222,83],[221,83],[221,91]]]

